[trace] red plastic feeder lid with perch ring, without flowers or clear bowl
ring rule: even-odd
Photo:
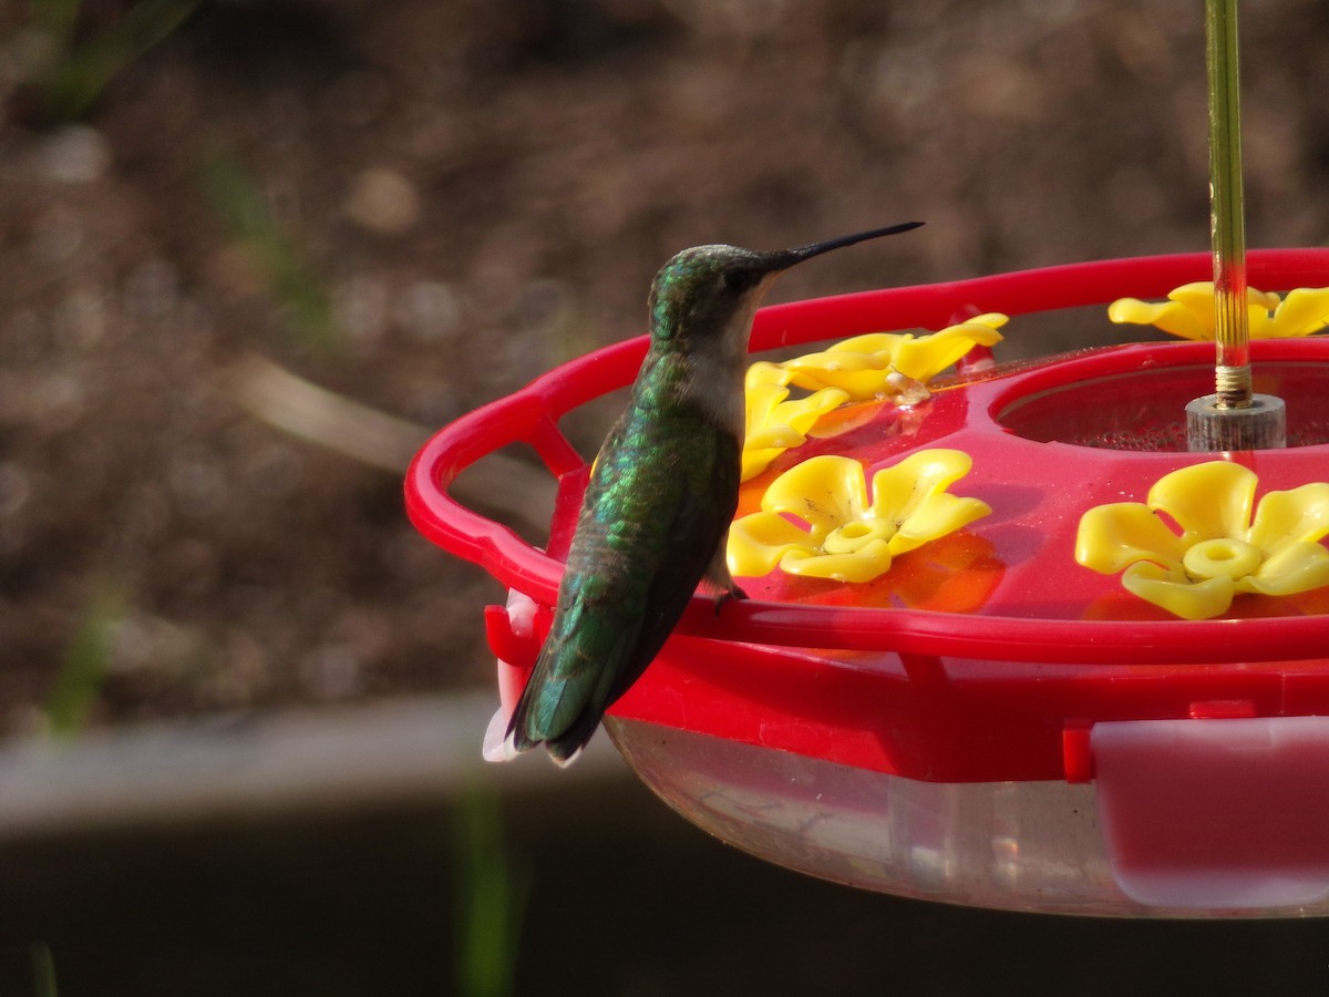
[[[1329,283],[1329,250],[1256,251],[1248,265],[1261,288]],[[796,302],[758,312],[751,347],[1162,298],[1209,267],[1208,254],[1152,257]],[[1018,320],[1007,331],[1018,336]],[[645,348],[643,336],[590,354],[440,431],[407,477],[415,525],[549,610],[587,473],[558,420],[629,384]],[[1286,401],[1293,445],[1228,456],[1255,471],[1260,495],[1322,480],[1329,339],[1260,340],[1252,356],[1257,389]],[[1143,501],[1163,475],[1213,459],[1179,443],[1185,403],[1212,389],[1212,362],[1211,344],[1142,343],[998,370],[920,405],[864,408],[853,428],[781,455],[747,483],[740,509],[768,476],[816,453],[853,456],[870,477],[946,447],[974,461],[956,493],[993,512],[867,585],[776,569],[743,578],[751,598],[719,618],[711,600],[694,600],[611,713],[938,782],[1088,778],[1096,722],[1329,713],[1326,590],[1183,621],[1074,560],[1084,510]],[[465,467],[513,443],[560,481],[549,552],[448,495]],[[548,617],[537,610],[522,637],[490,611],[500,669],[530,667]]]

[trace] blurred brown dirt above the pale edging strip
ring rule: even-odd
[[[1252,246],[1326,238],[1326,33],[1243,5]],[[488,683],[401,448],[643,331],[684,246],[928,221],[776,299],[1207,247],[1197,4],[214,0],[76,121],[33,51],[0,5],[0,734],[80,634],[94,724]],[[294,436],[255,356],[403,421]]]

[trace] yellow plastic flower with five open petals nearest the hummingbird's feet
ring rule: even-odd
[[[872,581],[894,557],[991,512],[946,491],[971,464],[962,451],[920,451],[872,476],[869,502],[863,464],[835,455],[805,460],[771,483],[762,512],[730,528],[730,570],[758,577],[779,565],[789,574]]]

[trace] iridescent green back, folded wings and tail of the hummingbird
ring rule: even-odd
[[[514,751],[577,756],[668,638],[734,518],[731,433],[688,420],[649,452],[639,436],[625,420],[601,451],[549,639],[509,723]]]

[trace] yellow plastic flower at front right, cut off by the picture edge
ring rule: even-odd
[[[1290,596],[1329,585],[1329,484],[1269,492],[1252,520],[1257,479],[1215,460],[1159,479],[1148,502],[1080,517],[1075,560],[1185,619],[1227,613],[1239,592]],[[1158,516],[1167,514],[1181,533]]]

